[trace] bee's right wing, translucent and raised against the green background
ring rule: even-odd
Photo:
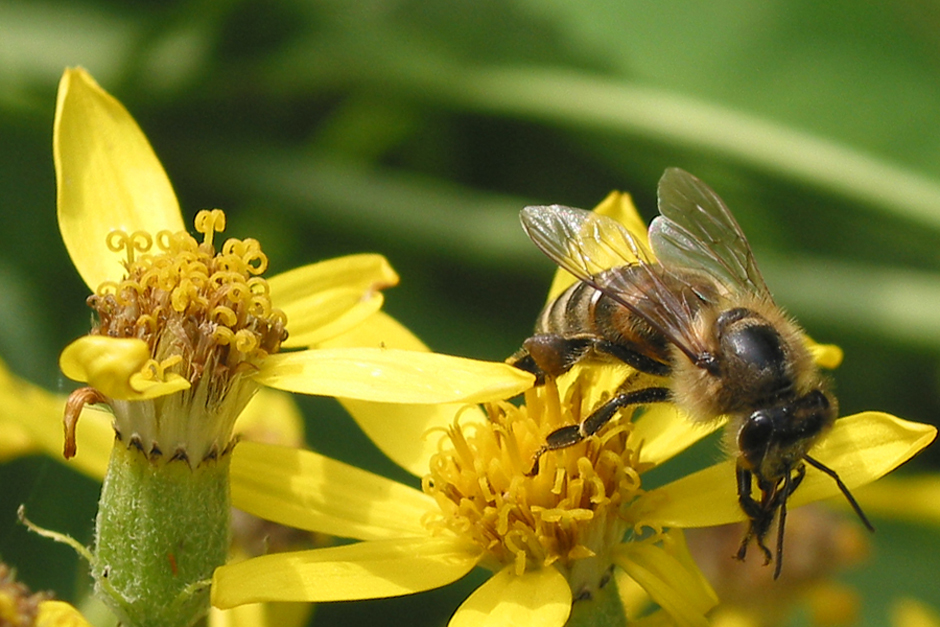
[[[668,168],[659,180],[659,213],[649,235],[661,264],[704,272],[731,291],[770,298],[741,227],[708,185]]]

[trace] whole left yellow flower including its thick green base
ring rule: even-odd
[[[398,280],[385,259],[356,255],[265,279],[257,240],[217,241],[221,210],[200,211],[193,237],[146,137],[84,70],[60,82],[53,156],[62,238],[96,313],[91,333],[59,360],[88,384],[65,403],[64,452],[76,453],[87,405],[110,408],[118,445],[94,550],[82,552],[98,596],[124,624],[186,627],[208,610],[205,582],[229,548],[233,428],[262,386],[441,403],[531,383],[505,364],[310,348],[376,314],[380,290]],[[385,383],[394,380],[414,385]]]

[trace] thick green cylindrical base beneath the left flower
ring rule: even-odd
[[[127,627],[189,627],[225,562],[231,455],[191,469],[115,442],[98,507],[95,590]]]

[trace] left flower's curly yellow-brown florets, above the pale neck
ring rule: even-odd
[[[217,253],[213,236],[224,228],[221,210],[200,211],[201,244],[185,231],[160,231],[155,254],[149,233],[112,231],[108,248],[125,252],[127,276],[88,299],[99,320],[92,335],[142,339],[155,369],[180,364],[193,385],[207,374],[224,383],[277,352],[287,318],[259,276],[268,258],[254,239],[229,239]]]

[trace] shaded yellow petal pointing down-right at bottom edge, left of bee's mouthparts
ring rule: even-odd
[[[683,626],[707,627],[705,614],[718,604],[714,591],[665,549],[627,542],[614,550],[614,563],[639,583],[656,603]]]

